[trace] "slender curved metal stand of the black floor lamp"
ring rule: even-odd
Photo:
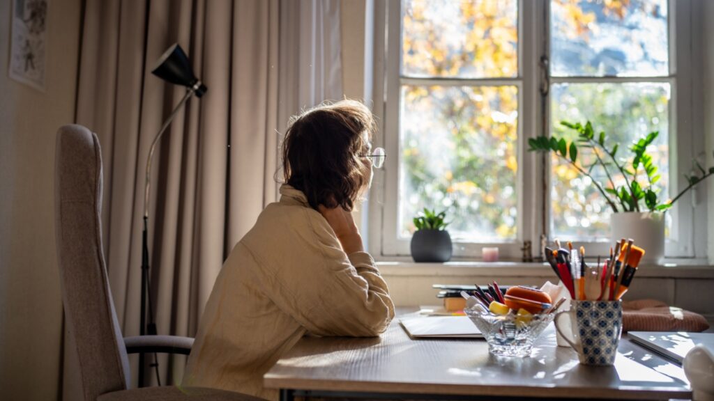
[[[200,81],[199,81],[200,83]],[[151,188],[151,159],[154,158],[154,151],[156,150],[156,144],[159,143],[159,138],[161,134],[166,131],[169,127],[171,121],[176,117],[178,110],[183,107],[183,105],[191,98],[191,95],[196,91],[198,84],[186,90],[186,95],[183,96],[174,111],[171,112],[171,116],[166,118],[164,125],[161,126],[161,130],[154,137],[154,141],[151,143],[151,148],[149,149],[149,157],[146,160],[146,180],[144,181],[144,230],[141,233],[141,322],[139,323],[139,335],[156,335],[156,323],[154,323],[154,314],[151,312],[153,309],[151,305],[151,281],[149,278],[149,189]],[[149,301],[149,322],[146,321],[146,301]],[[154,363],[151,364],[156,370],[156,381],[161,385],[161,379],[159,378],[159,359],[156,357],[156,352],[154,352]],[[144,352],[139,352],[139,387],[144,387]]]

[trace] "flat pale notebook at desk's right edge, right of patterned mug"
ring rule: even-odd
[[[632,342],[682,363],[687,352],[697,344],[714,351],[714,333],[685,333],[671,331],[630,331]]]

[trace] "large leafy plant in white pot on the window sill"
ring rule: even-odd
[[[706,171],[694,161],[698,173],[685,175],[688,186],[671,200],[660,200],[661,188],[656,184],[660,179],[658,168],[653,164],[647,147],[657,138],[657,131],[650,132],[630,145],[631,159],[619,158],[619,144],[607,143],[607,135],[600,132],[595,135],[592,123],[583,124],[561,121],[560,124],[577,131],[578,138],[568,143],[565,138],[539,136],[528,140],[528,151],[553,152],[558,158],[569,163],[578,173],[588,176],[593,181],[600,195],[605,198],[613,215],[610,230],[613,241],[620,238],[633,238],[638,245],[647,250],[643,260],[658,262],[664,256],[664,213],[698,183],[714,174],[714,167]],[[590,152],[592,161],[584,163],[579,151]],[[584,151],[583,151],[584,152]],[[599,183],[591,173],[593,168],[602,168],[607,181]],[[615,169],[624,178],[624,183],[616,185],[613,180]]]

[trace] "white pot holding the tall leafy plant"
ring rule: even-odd
[[[613,213],[610,230],[613,243],[621,238],[632,238],[635,245],[645,250],[640,264],[660,263],[665,256],[664,213]]]

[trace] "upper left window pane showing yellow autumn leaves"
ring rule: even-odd
[[[404,76],[518,75],[516,0],[404,0]]]

